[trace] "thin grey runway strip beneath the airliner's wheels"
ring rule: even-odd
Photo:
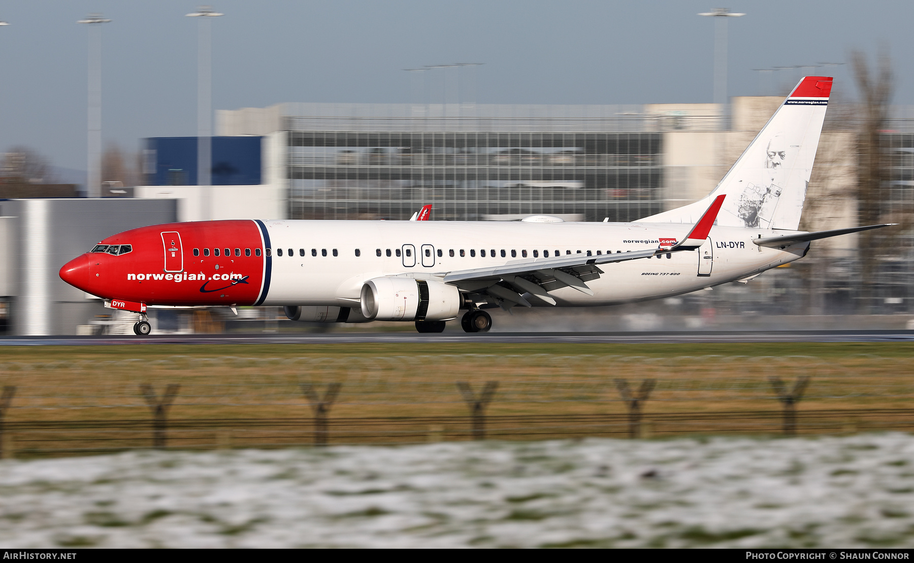
[[[0,345],[217,344],[700,344],[737,342],[912,342],[909,330],[638,333],[325,333],[303,335],[8,336]]]

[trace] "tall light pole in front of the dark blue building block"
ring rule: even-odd
[[[223,14],[214,12],[212,6],[201,5],[196,12],[186,16],[200,18],[197,20],[197,186],[201,191],[201,218],[206,221],[212,218],[210,173],[213,160],[213,116],[210,109],[212,103],[212,40],[209,18],[223,16]]]

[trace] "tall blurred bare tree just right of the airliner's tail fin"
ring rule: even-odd
[[[889,163],[882,146],[881,134],[886,129],[894,79],[887,48],[880,48],[877,68],[871,69],[862,51],[851,52],[857,90],[860,92],[860,129],[857,134],[858,175],[856,198],[860,222],[873,225],[884,219],[883,200],[887,195]],[[909,214],[906,214],[909,215]],[[902,218],[896,218],[901,220]],[[906,222],[906,221],[901,221]],[[877,266],[902,228],[887,232],[864,231],[860,235],[860,275],[865,312],[875,297]]]

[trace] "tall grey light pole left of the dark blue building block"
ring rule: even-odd
[[[89,101],[87,161],[86,161],[86,197],[101,197],[101,27],[110,19],[101,14],[90,14],[80,19],[78,24],[89,26]]]

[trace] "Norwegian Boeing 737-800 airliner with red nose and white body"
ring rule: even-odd
[[[705,199],[632,223],[228,220],[134,228],[60,277],[115,309],[280,305],[308,322],[492,325],[485,309],[632,303],[695,292],[799,260],[832,79],[800,81]],[[427,218],[423,208],[422,218]]]

